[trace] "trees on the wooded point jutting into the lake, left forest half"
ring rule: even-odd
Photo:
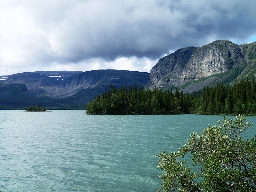
[[[101,96],[97,95],[95,100],[88,103],[87,114],[182,114],[188,113],[191,103],[188,100],[189,94],[185,94],[176,89],[172,91],[162,91],[157,89],[145,90],[132,86],[122,86],[116,89],[110,85],[110,90],[105,91]],[[194,99],[194,97],[192,97]]]

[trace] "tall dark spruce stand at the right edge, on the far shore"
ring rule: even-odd
[[[215,87],[206,87],[202,94],[201,114],[256,114],[256,82],[235,81],[232,87],[217,84]]]

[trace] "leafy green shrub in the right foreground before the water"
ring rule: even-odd
[[[244,116],[193,132],[177,152],[156,155],[158,168],[164,171],[159,191],[239,192],[256,190],[256,136],[246,140],[252,127]],[[186,155],[193,165],[186,165]]]

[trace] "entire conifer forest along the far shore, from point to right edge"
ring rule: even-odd
[[[145,89],[135,85],[116,89],[110,85],[108,91],[97,95],[88,103],[87,114],[207,114],[207,115],[256,115],[256,81],[237,79],[233,86],[217,84],[204,87],[194,93],[179,89],[165,91]]]

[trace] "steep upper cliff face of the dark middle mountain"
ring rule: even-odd
[[[129,85],[145,85],[149,79],[149,73],[138,71],[124,71],[124,70],[92,70],[85,71],[81,74],[67,77],[55,90],[52,91],[54,96],[67,96],[74,94],[82,89],[94,87],[99,90],[109,88],[109,85],[115,85],[120,88]]]

